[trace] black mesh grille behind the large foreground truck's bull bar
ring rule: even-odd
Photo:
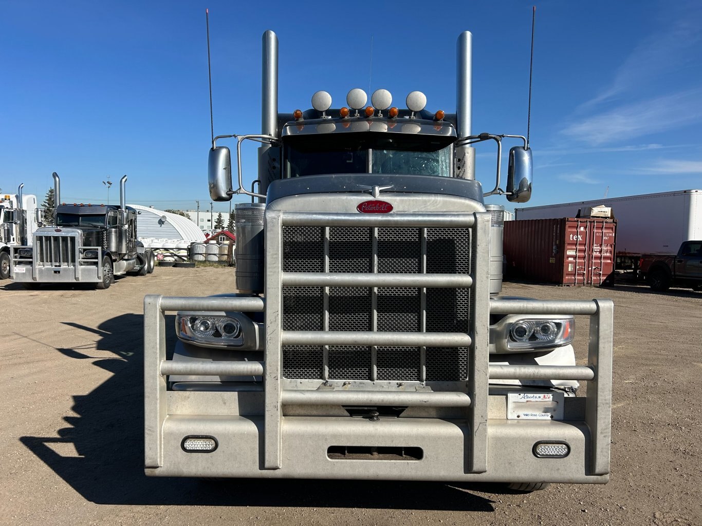
[[[470,229],[283,227],[284,272],[470,274]],[[465,288],[284,287],[283,330],[470,332]],[[284,345],[288,379],[457,382],[468,348]]]

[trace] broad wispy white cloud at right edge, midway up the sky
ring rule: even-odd
[[[565,135],[590,144],[662,133],[702,120],[702,89],[627,104],[572,123]]]

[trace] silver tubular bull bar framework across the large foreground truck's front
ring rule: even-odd
[[[406,217],[402,217],[402,216]],[[409,283],[402,274],[328,274],[284,273],[281,269],[282,226],[335,226],[350,224],[364,227],[453,227],[472,228],[472,254],[475,264],[471,276],[450,274],[413,275],[414,287],[456,287],[472,285],[471,332],[347,332],[282,330],[282,287],[363,286],[388,287]],[[399,405],[465,407],[471,436],[466,437],[466,473],[487,470],[487,402],[491,379],[577,379],[590,382],[585,401],[585,422],[590,428],[590,471],[609,473],[611,435],[611,362],[614,306],[609,299],[592,301],[524,301],[489,298],[488,213],[455,214],[301,214],[269,210],[266,213],[266,297],[163,297],[147,295],[145,311],[145,465],[162,465],[162,428],[167,417],[166,375],[261,375],[265,379],[263,464],[266,469],[281,466],[283,405]],[[479,240],[481,240],[479,242]],[[343,283],[344,285],[340,285]],[[421,283],[418,285],[418,283]],[[445,285],[442,283],[451,283]],[[263,362],[213,361],[175,363],[166,360],[166,311],[240,311],[266,313],[266,347]],[[588,365],[489,365],[489,315],[501,314],[574,314],[590,316]],[[469,346],[468,392],[450,391],[357,391],[282,389],[282,346],[289,345],[383,345]]]

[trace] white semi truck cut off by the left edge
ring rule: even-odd
[[[10,277],[10,249],[31,245],[32,234],[41,224],[37,196],[24,194],[20,184],[17,194],[0,194],[0,280]]]

